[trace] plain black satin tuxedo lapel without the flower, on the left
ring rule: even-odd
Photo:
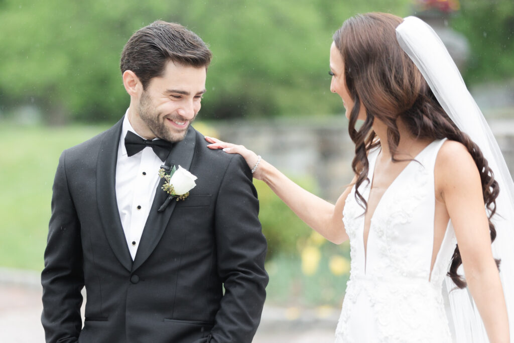
[[[123,117],[107,130],[98,154],[96,169],[96,194],[98,212],[107,241],[114,255],[127,269],[132,268],[132,258],[121,225],[116,201],[116,161]]]

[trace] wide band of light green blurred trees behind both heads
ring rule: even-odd
[[[329,92],[333,32],[411,0],[0,2],[0,108],[33,103],[48,122],[114,121],[128,106],[119,56],[156,19],[188,26],[214,53],[204,118],[341,113]]]

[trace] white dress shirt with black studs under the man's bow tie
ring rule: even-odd
[[[116,200],[128,250],[134,260],[159,183],[157,172],[163,162],[150,147],[128,157],[125,149],[127,131],[137,135],[125,113],[116,161]]]

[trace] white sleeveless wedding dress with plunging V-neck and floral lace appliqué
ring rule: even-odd
[[[421,151],[384,192],[371,218],[367,256],[363,208],[355,200],[355,186],[346,198],[343,222],[350,237],[352,268],[336,343],[452,341],[442,295],[456,244],[451,225],[430,270],[434,165],[443,142],[436,140]],[[370,180],[378,153],[376,149],[368,156]],[[368,183],[359,192],[368,199]]]

